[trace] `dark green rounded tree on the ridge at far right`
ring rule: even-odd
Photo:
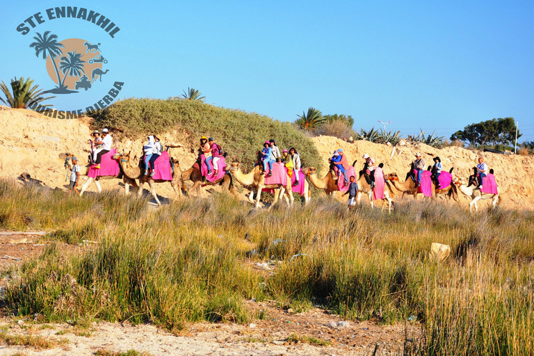
[[[521,133],[517,133],[517,138]],[[478,145],[508,145],[515,140],[514,118],[498,118],[470,124],[462,131],[456,131],[451,140],[469,141],[472,146]]]

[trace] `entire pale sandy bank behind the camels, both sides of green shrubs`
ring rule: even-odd
[[[62,152],[73,152],[81,162],[86,161],[89,153],[88,140],[90,129],[87,120],[59,120],[24,109],[12,109],[0,106],[0,177],[18,177],[22,172],[29,172],[32,178],[39,179],[51,188],[65,188],[67,172],[63,168],[63,160],[58,156]],[[169,131],[161,135],[163,144],[179,143],[184,140],[182,131]],[[474,152],[460,147],[435,149],[428,145],[406,145],[397,147],[396,154],[390,159],[393,147],[378,145],[366,141],[346,143],[330,136],[312,138],[318,152],[325,162],[332,151],[343,148],[352,162],[358,160],[363,164],[362,155],[368,153],[375,160],[384,163],[384,171],[398,172],[401,177],[408,170],[416,152],[421,152],[427,165],[432,163],[433,156],[440,156],[444,169],[455,168],[455,174],[469,176],[471,168],[476,165],[478,156],[483,156],[494,168],[495,174],[503,191],[503,206],[528,207],[534,209],[534,181],[531,172],[534,168],[532,156],[504,156],[487,152]],[[143,140],[120,140],[120,150],[140,152]],[[171,156],[178,158],[181,168],[191,167],[195,154],[193,147],[173,148]],[[324,174],[324,172],[322,172]],[[113,188],[119,181],[112,179],[102,181],[103,188]],[[169,184],[159,184],[159,194],[171,197]],[[91,186],[89,191],[95,191]],[[462,202],[467,200],[462,199]]]

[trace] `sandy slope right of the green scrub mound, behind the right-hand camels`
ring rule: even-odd
[[[481,156],[485,159],[488,167],[495,170],[496,180],[502,192],[502,206],[534,209],[533,156],[505,156],[504,154],[475,152],[461,147],[436,149],[425,144],[408,144],[397,146],[396,154],[390,159],[393,147],[388,145],[379,145],[361,140],[355,141],[355,143],[347,143],[331,136],[314,137],[312,141],[325,161],[332,156],[334,149],[342,148],[343,152],[347,154],[350,163],[357,160],[356,167],[359,170],[364,164],[362,156],[367,153],[375,159],[377,164],[384,163],[385,174],[396,172],[401,181],[403,181],[410,169],[409,165],[414,161],[416,152],[421,152],[427,166],[433,165],[432,158],[439,156],[444,170],[448,171],[454,167],[453,175],[465,178],[472,174],[472,168],[476,166],[478,157]],[[320,177],[323,177],[324,173],[321,172]],[[461,193],[460,195],[462,196],[460,197],[460,202],[467,204],[467,198],[463,197]]]

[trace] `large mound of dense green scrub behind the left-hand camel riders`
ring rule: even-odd
[[[199,100],[129,98],[113,103],[93,117],[96,129],[117,129],[130,138],[175,128],[186,129],[191,134],[190,142],[195,145],[200,136],[213,136],[228,152],[228,159],[241,162],[245,170],[252,169],[256,152],[270,138],[276,140],[280,150],[296,147],[303,165],[321,167],[321,159],[312,141],[290,122],[220,108]]]

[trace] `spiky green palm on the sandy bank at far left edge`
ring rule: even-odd
[[[42,89],[39,89],[39,86],[35,84],[33,86],[33,80],[28,78],[11,79],[11,90],[10,92],[6,83],[2,81],[0,84],[0,90],[2,90],[3,95],[6,95],[6,100],[0,97],[0,100],[3,104],[11,106],[12,108],[35,108],[40,102],[44,100],[53,99],[54,97],[42,97]],[[51,106],[51,104],[42,105],[43,107]]]

